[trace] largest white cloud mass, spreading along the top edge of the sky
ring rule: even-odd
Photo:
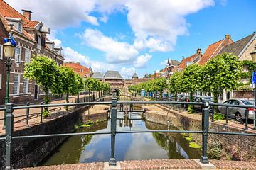
[[[227,0],[219,0],[220,4],[227,4]],[[185,17],[196,13],[208,6],[214,6],[213,0],[6,0],[18,11],[21,8],[31,9],[33,17],[43,21],[52,28],[78,26],[82,21],[99,25],[92,12],[102,13],[100,21],[107,22],[111,13],[122,12],[127,14],[127,21],[134,32],[134,47],[137,50],[149,48],[151,52],[166,52],[174,50],[179,35],[188,35],[189,23]],[[146,2],[146,3],[145,3]],[[47,4],[47,5],[46,5]],[[121,46],[127,46],[121,42]],[[134,48],[132,47],[132,48]],[[127,50],[127,47],[123,47]],[[128,47],[129,48],[129,47]],[[130,48],[130,50],[133,50]],[[108,55],[113,55],[113,52]],[[124,62],[127,54],[124,54]],[[120,56],[114,56],[115,60]]]

